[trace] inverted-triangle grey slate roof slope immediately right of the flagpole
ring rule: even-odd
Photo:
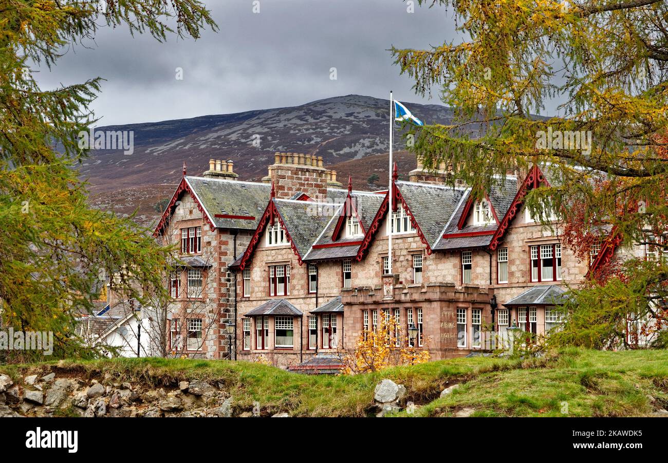
[[[413,182],[395,182],[430,247],[443,234],[465,190]]]

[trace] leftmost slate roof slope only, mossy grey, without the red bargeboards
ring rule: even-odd
[[[271,185],[258,182],[241,182],[186,176],[186,182],[208,212],[214,224],[220,228],[255,230],[269,202]],[[255,219],[220,218],[216,214],[253,216]]]

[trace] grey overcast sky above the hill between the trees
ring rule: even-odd
[[[295,106],[361,94],[421,99],[387,51],[456,39],[452,10],[406,0],[208,0],[220,30],[202,38],[130,36],[103,28],[88,47],[67,50],[38,75],[43,89],[100,76],[92,109],[99,125],[156,122],[206,114]],[[176,79],[176,68],[183,80]],[[336,68],[336,80],[330,69]]]

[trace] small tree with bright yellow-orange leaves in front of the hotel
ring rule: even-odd
[[[417,341],[417,340],[415,340]],[[413,341],[413,344],[417,342]],[[411,345],[395,317],[380,317],[377,329],[364,330],[352,349],[341,349],[341,373],[379,371],[397,365],[415,365],[430,361],[427,340],[422,346]]]

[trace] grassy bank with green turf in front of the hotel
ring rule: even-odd
[[[668,405],[668,351],[599,352],[567,349],[535,361],[489,357],[434,361],[355,376],[298,375],[257,363],[189,359],[107,359],[0,366],[19,374],[104,377],[160,387],[183,379],[219,381],[236,410],[292,416],[367,416],[373,390],[384,378],[407,388],[415,416],[452,416],[474,408],[474,416],[645,416]],[[460,388],[446,398],[448,385]],[[406,416],[401,412],[399,416]]]

